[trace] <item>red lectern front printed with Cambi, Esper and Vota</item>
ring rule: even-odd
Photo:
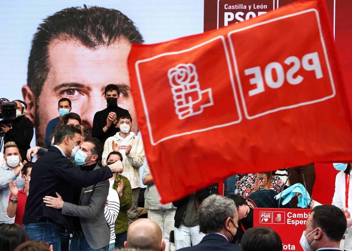
[[[253,227],[270,227],[282,240],[282,250],[303,250],[300,239],[311,209],[254,208]]]

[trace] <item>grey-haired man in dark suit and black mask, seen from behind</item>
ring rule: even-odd
[[[180,251],[240,250],[240,246],[231,244],[238,228],[238,213],[233,200],[210,195],[199,206],[198,220],[206,236],[199,244]]]

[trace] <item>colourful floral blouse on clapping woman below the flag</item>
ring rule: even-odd
[[[236,184],[236,186],[239,187],[239,190],[241,191],[241,195],[243,198],[246,198],[249,196],[251,193],[254,191],[254,182],[257,179],[257,174],[253,175],[246,175],[243,176],[242,179]],[[262,178],[259,178],[259,180],[263,180]],[[270,183],[270,190],[274,190],[275,192],[279,193],[284,187],[284,182],[278,177],[278,176],[272,176],[271,178],[271,183]],[[263,190],[263,186],[260,185],[259,190]]]

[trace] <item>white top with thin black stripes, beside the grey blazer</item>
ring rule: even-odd
[[[108,205],[104,208],[105,219],[110,227],[110,242],[115,243],[115,221],[120,211],[120,199],[115,189],[109,188]]]

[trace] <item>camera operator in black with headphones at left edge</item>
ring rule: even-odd
[[[27,160],[26,153],[27,150],[31,148],[30,143],[33,138],[34,126],[32,121],[25,117],[26,110],[21,104],[23,101],[15,100],[14,102],[17,104],[16,118],[14,120],[8,120],[6,123],[2,121],[0,129],[5,133],[4,142],[15,142],[21,156],[23,156],[23,160]],[[24,102],[23,104],[27,108],[27,104]]]

